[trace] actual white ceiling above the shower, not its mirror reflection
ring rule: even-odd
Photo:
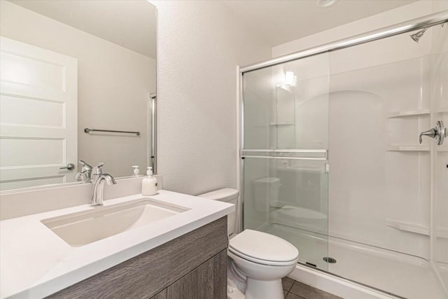
[[[338,0],[327,8],[316,0],[225,0],[223,3],[270,46],[376,15],[416,0]]]

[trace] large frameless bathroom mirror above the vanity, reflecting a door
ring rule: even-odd
[[[154,166],[155,6],[0,6],[0,190],[80,183],[78,160],[116,178]]]

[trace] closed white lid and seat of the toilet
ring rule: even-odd
[[[244,230],[230,239],[229,249],[242,257],[272,262],[289,262],[299,256],[290,242],[257,230]]]

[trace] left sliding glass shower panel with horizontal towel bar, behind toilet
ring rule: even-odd
[[[243,75],[244,229],[328,269],[328,54]]]

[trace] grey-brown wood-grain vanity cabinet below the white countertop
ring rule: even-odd
[[[227,216],[47,298],[227,298]]]

